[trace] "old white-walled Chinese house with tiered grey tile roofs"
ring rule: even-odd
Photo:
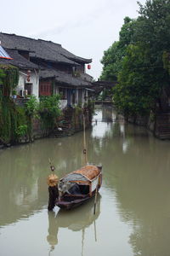
[[[0,41],[12,60],[20,68],[18,93],[50,96],[59,93],[61,107],[83,105],[88,99],[92,77],[86,73],[91,59],[73,55],[60,44],[15,34],[0,33]]]

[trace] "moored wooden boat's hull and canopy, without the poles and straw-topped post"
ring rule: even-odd
[[[56,205],[71,209],[97,195],[102,183],[102,166],[87,165],[59,180]]]

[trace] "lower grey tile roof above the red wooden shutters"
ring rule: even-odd
[[[56,82],[59,82],[61,84],[65,85],[72,85],[72,86],[80,86],[80,87],[86,87],[91,85],[88,81],[84,81],[81,78],[75,78],[71,74],[64,73],[61,71],[56,71],[52,68],[46,68],[45,70],[41,70],[40,72],[40,79],[49,79],[54,78]]]

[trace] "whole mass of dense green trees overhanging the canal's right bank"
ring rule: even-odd
[[[123,113],[155,112],[162,90],[170,85],[169,14],[167,0],[139,3],[138,19],[126,18],[119,41],[105,52],[101,79],[117,77],[113,99]]]

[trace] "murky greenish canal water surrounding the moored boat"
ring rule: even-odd
[[[82,132],[0,151],[1,256],[169,256],[170,142],[96,108],[88,159],[103,185],[82,207],[48,212],[48,158],[59,177],[83,165]]]

